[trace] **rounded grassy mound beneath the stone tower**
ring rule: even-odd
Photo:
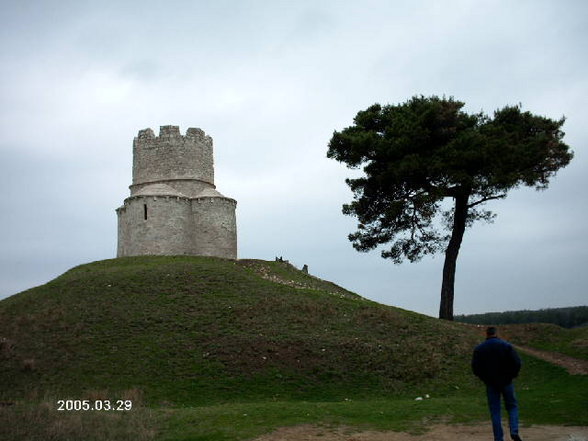
[[[133,257],[0,302],[4,399],[140,390],[148,403],[329,400],[473,384],[469,327],[280,262]]]

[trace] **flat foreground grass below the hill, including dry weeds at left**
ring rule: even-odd
[[[588,426],[588,376],[523,356],[516,388],[521,424]],[[416,390],[415,390],[416,392]],[[420,391],[425,397],[426,390]],[[30,441],[237,441],[253,439],[279,427],[314,424],[350,430],[421,433],[435,423],[488,421],[482,384],[445,396],[342,401],[227,402],[210,406],[140,406],[128,413],[57,412],[55,398],[0,408],[0,439]],[[20,428],[10,432],[9,428]],[[4,429],[3,429],[4,428]],[[5,430],[5,432],[3,432]]]

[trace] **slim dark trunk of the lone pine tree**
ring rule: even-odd
[[[469,192],[463,192],[455,197],[455,212],[453,215],[453,229],[451,239],[445,250],[445,263],[443,264],[443,282],[441,283],[441,305],[439,306],[439,318],[453,320],[453,295],[455,286],[455,266],[457,255],[461,247],[461,240],[465,232],[466,219],[468,217]]]

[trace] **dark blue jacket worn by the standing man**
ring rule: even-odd
[[[484,383],[506,386],[521,370],[521,359],[512,345],[498,337],[487,338],[474,349],[472,371]]]

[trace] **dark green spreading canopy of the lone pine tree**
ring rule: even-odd
[[[343,212],[357,216],[349,236],[359,251],[391,243],[384,258],[417,261],[444,249],[449,235],[434,222],[453,207],[446,198],[466,197],[466,223],[490,220],[479,205],[506,197],[520,185],[544,189],[572,159],[557,121],[506,106],[491,118],[467,114],[453,98],[413,97],[399,105],[374,104],[360,111],[354,125],[335,132],[327,156],[365,176],[347,179],[354,200]]]

